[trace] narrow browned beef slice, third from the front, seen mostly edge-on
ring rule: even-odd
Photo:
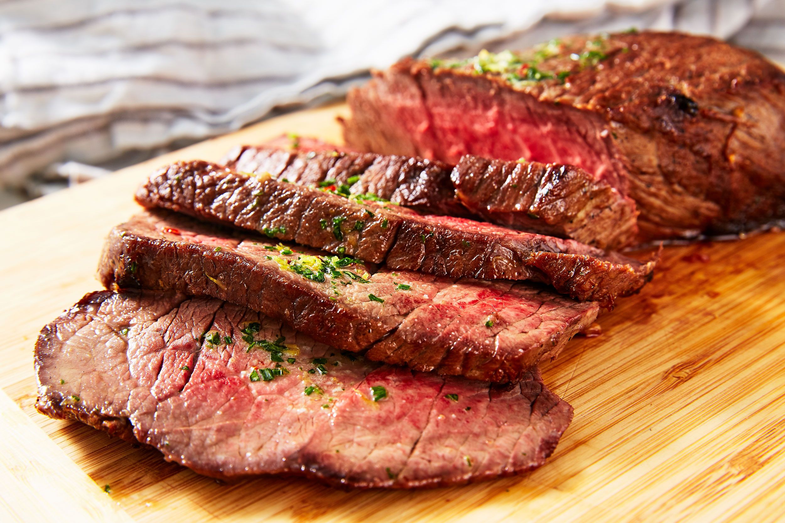
[[[655,266],[653,260],[641,263],[573,240],[423,216],[389,202],[346,198],[206,162],[160,169],[139,188],[137,201],[364,261],[384,261],[392,269],[542,281],[608,307],[617,296],[641,289]]]

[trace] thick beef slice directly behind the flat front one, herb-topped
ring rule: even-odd
[[[539,285],[358,262],[155,211],[111,231],[99,276],[108,289],[175,290],[250,307],[375,361],[494,382],[520,380],[554,358],[599,311]]]

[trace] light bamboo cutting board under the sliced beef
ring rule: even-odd
[[[575,420],[544,467],[456,488],[225,485],[159,452],[38,414],[38,330],[85,292],[133,189],[174,159],[214,161],[292,131],[339,140],[327,107],[0,212],[2,521],[778,521],[785,518],[785,233],[666,249],[655,279],[542,365]],[[104,492],[104,486],[110,492]]]

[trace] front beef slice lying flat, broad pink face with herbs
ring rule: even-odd
[[[519,474],[571,407],[533,370],[489,385],[341,354],[231,303],[93,292],[35,347],[40,412],[216,478],[414,488]]]

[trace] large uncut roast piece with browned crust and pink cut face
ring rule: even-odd
[[[359,151],[586,169],[637,202],[641,240],[785,218],[785,73],[714,38],[628,32],[403,60],[349,106]]]

